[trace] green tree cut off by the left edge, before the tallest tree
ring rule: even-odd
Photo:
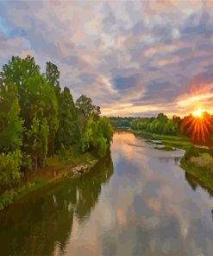
[[[0,82],[0,151],[18,150],[22,145],[22,119],[15,84]]]

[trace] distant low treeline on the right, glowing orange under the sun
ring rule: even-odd
[[[193,117],[191,114],[180,118],[173,116],[168,118],[160,113],[151,118],[110,118],[111,125],[116,129],[131,128],[135,131],[146,131],[160,135],[179,136],[185,135],[191,142],[203,145],[213,144],[213,116],[204,112],[201,117]]]

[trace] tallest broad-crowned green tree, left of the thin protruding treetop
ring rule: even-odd
[[[0,78],[5,84],[13,83],[17,86],[21,118],[24,120],[26,131],[23,134],[25,142],[23,150],[28,150],[26,149],[28,130],[32,128],[34,118],[40,124],[46,118],[49,129],[48,151],[52,155],[55,132],[59,126],[58,102],[53,86],[50,86],[45,77],[40,74],[40,67],[35,64],[34,58],[30,56],[25,59],[12,57],[12,60],[3,66]],[[34,153],[32,152],[32,154]]]

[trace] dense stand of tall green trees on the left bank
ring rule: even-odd
[[[74,103],[52,62],[42,74],[33,57],[12,57],[0,72],[0,194],[60,150],[105,155],[113,129],[100,114],[85,95]]]

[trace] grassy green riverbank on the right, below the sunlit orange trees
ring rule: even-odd
[[[180,167],[195,178],[197,183],[213,195],[213,157],[212,149],[192,144],[183,136],[166,136],[147,131],[133,131],[135,136],[146,138],[156,144],[158,150],[185,150]]]

